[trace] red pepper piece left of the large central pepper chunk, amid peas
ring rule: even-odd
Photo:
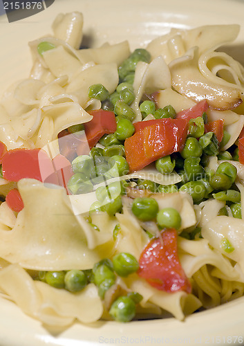
[[[115,113],[97,109],[90,112],[93,119],[84,123],[88,145],[93,148],[104,134],[113,134],[117,129]]]

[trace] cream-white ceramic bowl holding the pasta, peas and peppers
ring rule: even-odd
[[[9,24],[5,15],[1,17],[0,95],[6,86],[28,76],[28,42],[50,33],[57,13],[73,10],[83,12],[86,42],[92,46],[128,39],[132,49],[144,46],[171,27],[241,24],[238,39],[226,49],[244,64],[243,0],[55,0],[43,12],[21,21]],[[48,331],[15,304],[0,299],[1,346],[241,345],[243,340],[244,297],[194,313],[184,322],[166,318],[127,324],[77,323],[62,332]]]

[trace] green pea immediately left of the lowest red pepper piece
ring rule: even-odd
[[[113,257],[115,273],[122,277],[135,273],[139,269],[139,263],[131,253],[118,253]]]

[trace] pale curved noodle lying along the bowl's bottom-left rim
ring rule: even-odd
[[[75,319],[90,323],[102,316],[102,301],[94,284],[71,293],[34,281],[21,266],[10,264],[0,271],[0,289],[25,313],[46,326],[66,327]]]

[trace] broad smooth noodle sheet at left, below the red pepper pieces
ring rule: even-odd
[[[101,239],[93,243],[100,246],[88,248],[86,233],[73,215],[64,188],[46,188],[34,179],[22,179],[18,188],[24,209],[12,230],[0,230],[1,258],[24,268],[59,271],[92,268],[106,257],[111,237],[89,228],[95,239]]]

